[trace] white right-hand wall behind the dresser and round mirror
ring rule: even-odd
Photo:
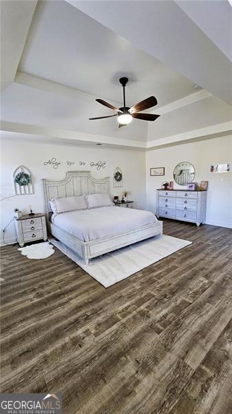
[[[232,172],[210,174],[211,164],[231,163],[232,137],[219,137],[151,150],[146,154],[147,209],[156,212],[156,189],[173,180],[173,168],[189,161],[196,169],[194,181],[208,180],[207,224],[232,228]],[[149,168],[165,167],[164,177],[150,177]],[[175,187],[185,188],[175,184]]]

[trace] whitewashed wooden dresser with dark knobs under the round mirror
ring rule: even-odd
[[[182,221],[204,223],[207,191],[157,190],[158,215]]]

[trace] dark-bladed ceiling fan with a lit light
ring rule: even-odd
[[[112,110],[116,110],[118,112],[115,115],[107,115],[106,117],[96,117],[96,118],[89,118],[92,119],[103,119],[103,118],[111,118],[111,117],[118,117],[118,128],[120,126],[125,126],[129,124],[133,118],[136,119],[143,119],[144,121],[155,121],[160,115],[154,115],[154,114],[139,114],[141,110],[145,110],[148,108],[151,108],[152,106],[157,105],[157,100],[155,97],[149,97],[147,99],[144,99],[141,102],[136,103],[136,105],[129,108],[126,106],[125,101],[125,86],[128,82],[127,77],[122,77],[119,79],[120,84],[123,86],[123,106],[122,108],[116,108],[115,106],[111,105],[111,103],[107,103],[106,101],[103,101],[103,99],[96,99],[97,102],[101,103],[101,105],[107,106],[107,108],[110,108]]]

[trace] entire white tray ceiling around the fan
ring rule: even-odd
[[[146,148],[162,139],[167,144],[172,135],[216,124],[226,124],[228,130],[231,107],[216,98],[224,95],[232,79],[226,77],[228,42],[224,35],[217,35],[218,25],[213,31],[211,19],[222,10],[219,20],[223,23],[224,0],[222,9],[218,4],[213,12],[209,1],[203,6],[202,0],[200,9],[194,8],[193,3],[198,1],[190,0],[189,6],[188,1],[180,5],[176,1],[178,5],[173,0],[134,1],[127,14],[120,14],[121,7],[126,10],[130,1],[113,0],[105,7],[105,1],[98,0],[45,0],[37,2],[35,12],[36,1],[1,2],[2,39],[6,41],[3,129],[17,134],[25,131],[38,139],[47,135],[67,142],[101,141],[134,148]],[[18,26],[23,28],[18,30]],[[209,39],[213,35],[214,43]],[[153,123],[134,119],[120,129],[116,118],[89,121],[89,117],[114,114],[96,103],[96,97],[116,106],[122,104],[123,90],[118,83],[121,76],[129,77],[128,106],[155,95],[158,106],[146,112],[160,110],[162,116]],[[215,96],[205,90],[196,94],[193,83],[201,79],[198,83],[204,86],[206,79]],[[226,93],[229,97],[228,88]],[[223,132],[223,128],[218,130]]]

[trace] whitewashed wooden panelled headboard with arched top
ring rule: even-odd
[[[98,179],[92,177],[90,171],[67,171],[61,180],[42,179],[43,197],[46,218],[49,219],[49,200],[57,197],[72,197],[72,195],[107,193],[109,194],[109,177]]]

